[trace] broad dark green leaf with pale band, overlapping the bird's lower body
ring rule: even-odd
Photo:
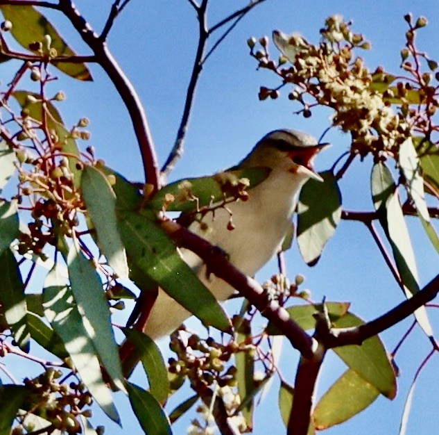
[[[118,213],[123,245],[137,268],[205,325],[230,331],[221,305],[184,263],[172,240],[146,215]]]

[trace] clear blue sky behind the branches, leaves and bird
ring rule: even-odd
[[[77,0],[76,5],[94,28],[99,31],[105,21],[111,1]],[[209,23],[231,13],[245,1],[211,0]],[[197,90],[185,153],[171,174],[171,181],[182,177],[209,174],[231,166],[247,154],[250,148],[268,131],[277,128],[300,129],[320,136],[329,125],[326,110],[317,111],[311,118],[293,115],[297,109],[286,98],[286,92],[277,101],[259,102],[259,85],[276,85],[273,74],[256,71],[255,60],[248,55],[246,40],[270,35],[274,29],[285,33],[297,31],[312,42],[318,42],[318,30],[329,15],[340,14],[354,22],[353,28],[372,42],[372,50],[363,53],[370,69],[383,65],[390,72],[397,72],[399,51],[404,46],[406,25],[403,15],[411,12],[415,17],[425,15],[429,26],[419,32],[418,47],[438,60],[437,35],[439,9],[436,1],[293,1],[268,0],[252,11],[225,42],[209,58]],[[64,37],[80,54],[87,54],[82,40],[69,28],[69,23],[55,13],[50,13]],[[187,83],[196,50],[198,24],[193,9],[185,0],[141,1],[132,0],[117,19],[108,41],[115,58],[135,85],[146,108],[157,154],[162,163],[173,145],[178,129]],[[277,51],[270,44],[271,51]],[[79,117],[91,121],[92,144],[96,154],[107,165],[124,174],[128,179],[141,181],[142,169],[139,151],[132,133],[130,120],[119,96],[114,92],[105,74],[91,66],[94,83],[76,83],[60,77],[53,86],[54,93],[62,89],[67,101],[60,110],[67,124],[74,124]],[[349,138],[332,131],[327,140],[333,146],[318,157],[316,166],[325,170],[349,147]],[[84,145],[85,147],[85,145]],[[370,159],[355,163],[347,177],[341,181],[343,206],[346,209],[370,210]],[[416,220],[409,220],[413,245],[420,269],[421,285],[436,275],[438,258],[431,249]],[[402,293],[393,281],[377,247],[365,227],[357,222],[341,222],[336,235],[329,241],[316,267],[309,268],[298,254],[297,245],[288,253],[289,274],[302,273],[307,277],[305,286],[311,289],[313,299],[352,302],[352,311],[365,320],[390,309],[402,300]],[[275,270],[274,263],[261,271],[263,281]],[[431,321],[439,329],[438,317],[432,309]],[[435,325],[436,323],[436,325]],[[392,350],[404,334],[411,320],[406,320],[382,335],[388,350]],[[195,323],[193,325],[196,325]],[[166,349],[166,345],[163,345]],[[293,381],[296,356],[284,346],[282,369]],[[397,363],[401,369],[399,392],[393,402],[383,397],[370,409],[342,426],[329,429],[332,434],[396,434],[404,401],[416,368],[429,352],[429,343],[416,329],[402,350]],[[439,364],[433,357],[422,372],[415,393],[408,434],[437,432],[439,424],[436,388]],[[325,361],[320,377],[320,394],[334,381],[344,368],[334,357]],[[137,377],[139,383],[144,380]],[[277,411],[277,388],[268,395],[255,415],[255,434],[268,430],[282,433],[283,426]],[[189,395],[190,393],[187,393]],[[180,399],[184,397],[180,396]],[[123,430],[108,422],[108,434],[141,434],[129,405],[119,397]],[[177,404],[178,402],[172,402]],[[173,405],[169,407],[169,410]],[[98,414],[96,414],[98,415]],[[188,420],[178,425],[175,434],[183,434]]]

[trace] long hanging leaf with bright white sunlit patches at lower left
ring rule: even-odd
[[[107,416],[120,424],[119,414],[114,407],[110,390],[102,379],[101,367],[93,342],[85,329],[73,294],[56,265],[44,281],[43,296],[46,318],[64,342],[85,386]]]

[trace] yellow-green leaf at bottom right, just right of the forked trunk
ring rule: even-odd
[[[329,388],[313,411],[316,429],[339,425],[363,409],[379,396],[379,391],[354,370],[346,370]]]

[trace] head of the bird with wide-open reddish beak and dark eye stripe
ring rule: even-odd
[[[296,130],[275,130],[259,140],[250,154],[243,159],[243,167],[270,167],[273,171],[286,170],[300,178],[323,181],[313,170],[313,159],[329,144],[319,144],[313,136]]]

